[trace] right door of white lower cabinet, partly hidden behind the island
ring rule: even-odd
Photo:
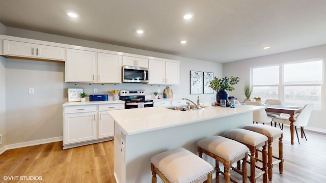
[[[98,138],[114,136],[114,119],[106,111],[99,113]]]

